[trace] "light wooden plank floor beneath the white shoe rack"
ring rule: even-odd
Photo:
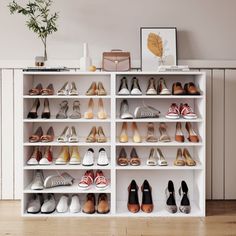
[[[0,202],[0,235],[236,235],[236,201],[207,202],[206,218],[38,218],[20,216],[20,202]]]

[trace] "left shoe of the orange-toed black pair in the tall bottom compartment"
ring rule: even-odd
[[[132,213],[137,213],[140,210],[139,200],[138,200],[138,185],[135,180],[132,180],[128,187],[128,203],[127,208]]]

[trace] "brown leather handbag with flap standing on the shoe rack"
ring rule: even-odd
[[[105,71],[129,71],[131,69],[130,52],[123,52],[120,49],[104,52],[102,69]]]

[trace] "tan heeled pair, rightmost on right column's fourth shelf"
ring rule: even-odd
[[[196,166],[196,161],[193,160],[187,148],[177,150],[176,159],[174,161],[175,166]]]

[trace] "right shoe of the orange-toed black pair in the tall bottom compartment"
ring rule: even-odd
[[[152,201],[152,187],[145,179],[141,187],[143,192],[141,210],[145,213],[151,213],[153,211],[153,201]]]

